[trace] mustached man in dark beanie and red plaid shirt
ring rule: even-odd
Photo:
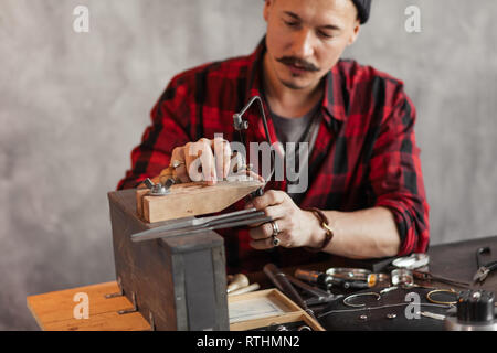
[[[171,81],[118,189],[158,175],[172,161],[177,178],[189,181],[189,167],[200,156],[190,156],[192,150],[205,158],[207,180],[226,176],[231,151],[214,133],[233,141],[233,114],[258,95],[273,141],[309,142],[309,185],[290,196],[286,180],[269,181],[264,195],[245,205],[275,221],[223,233],[229,271],[329,254],[378,258],[425,252],[429,205],[415,108],[402,82],[340,60],[369,11],[370,0],[266,0],[267,32],[255,53]],[[250,111],[246,139],[265,141],[257,109]]]

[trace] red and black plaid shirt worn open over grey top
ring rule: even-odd
[[[131,152],[133,167],[117,189],[135,188],[170,163],[173,148],[214,133],[237,140],[233,114],[261,95],[263,40],[248,56],[205,64],[172,78],[151,110],[152,125]],[[425,252],[429,245],[429,205],[420,150],[414,138],[415,108],[403,83],[355,61],[339,61],[324,78],[321,122],[309,159],[309,186],[300,207],[342,212],[383,206],[395,217],[401,237],[399,255]],[[271,115],[272,141],[277,141]],[[250,121],[246,141],[265,141],[258,109]],[[247,147],[248,151],[248,147]],[[267,189],[286,190],[272,181]],[[242,202],[233,205],[241,208]],[[224,236],[228,270],[261,270],[320,260],[327,255],[300,248],[254,250],[246,229],[219,232]]]

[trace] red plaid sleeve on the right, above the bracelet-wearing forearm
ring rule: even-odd
[[[374,206],[393,212],[401,237],[399,255],[423,253],[429,245],[429,204],[415,143],[415,107],[398,85],[372,149],[369,181]]]

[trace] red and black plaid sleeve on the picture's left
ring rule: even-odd
[[[170,163],[172,150],[191,141],[190,104],[191,89],[180,75],[171,79],[154,106],[141,143],[131,151],[131,169],[119,181],[117,190],[136,188],[147,178],[158,175]]]

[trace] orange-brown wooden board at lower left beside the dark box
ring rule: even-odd
[[[27,298],[28,308],[42,330],[45,331],[145,331],[150,325],[139,312],[118,314],[129,309],[126,297],[105,298],[119,291],[116,281],[53,291]],[[88,296],[88,319],[75,319],[74,308],[78,292]]]

